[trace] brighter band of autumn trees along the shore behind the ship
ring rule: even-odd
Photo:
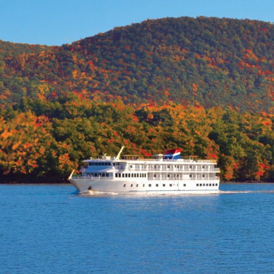
[[[130,153],[141,155],[180,147],[185,155],[218,159],[224,180],[273,180],[273,115],[67,99],[56,105],[58,117],[52,105],[46,108],[38,99],[22,100],[16,111],[2,111],[3,178],[6,174],[63,178],[83,159],[115,155],[124,144],[131,147]],[[37,106],[49,116],[40,115]]]

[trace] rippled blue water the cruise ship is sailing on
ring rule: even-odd
[[[0,185],[0,273],[274,273],[274,184],[217,195]]]

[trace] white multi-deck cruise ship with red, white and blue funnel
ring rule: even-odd
[[[85,166],[68,180],[80,191],[118,194],[215,194],[220,169],[216,160],[180,157],[180,149],[166,150],[153,158],[122,155],[84,160]]]

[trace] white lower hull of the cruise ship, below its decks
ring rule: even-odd
[[[72,177],[69,181],[80,191],[87,190],[117,194],[216,194],[219,193],[217,180],[189,181],[120,181]],[[201,187],[200,183],[205,186]],[[198,184],[198,186],[197,186]],[[149,186],[150,185],[150,186]],[[156,186],[158,185],[158,186]],[[163,186],[164,185],[164,186]],[[170,186],[171,185],[171,186]],[[207,185],[207,186],[206,186]]]

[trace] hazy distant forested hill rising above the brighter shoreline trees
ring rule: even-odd
[[[136,105],[175,102],[273,111],[274,25],[263,21],[147,20],[2,60],[2,106],[22,97],[55,100],[74,93],[97,101],[120,96]]]

